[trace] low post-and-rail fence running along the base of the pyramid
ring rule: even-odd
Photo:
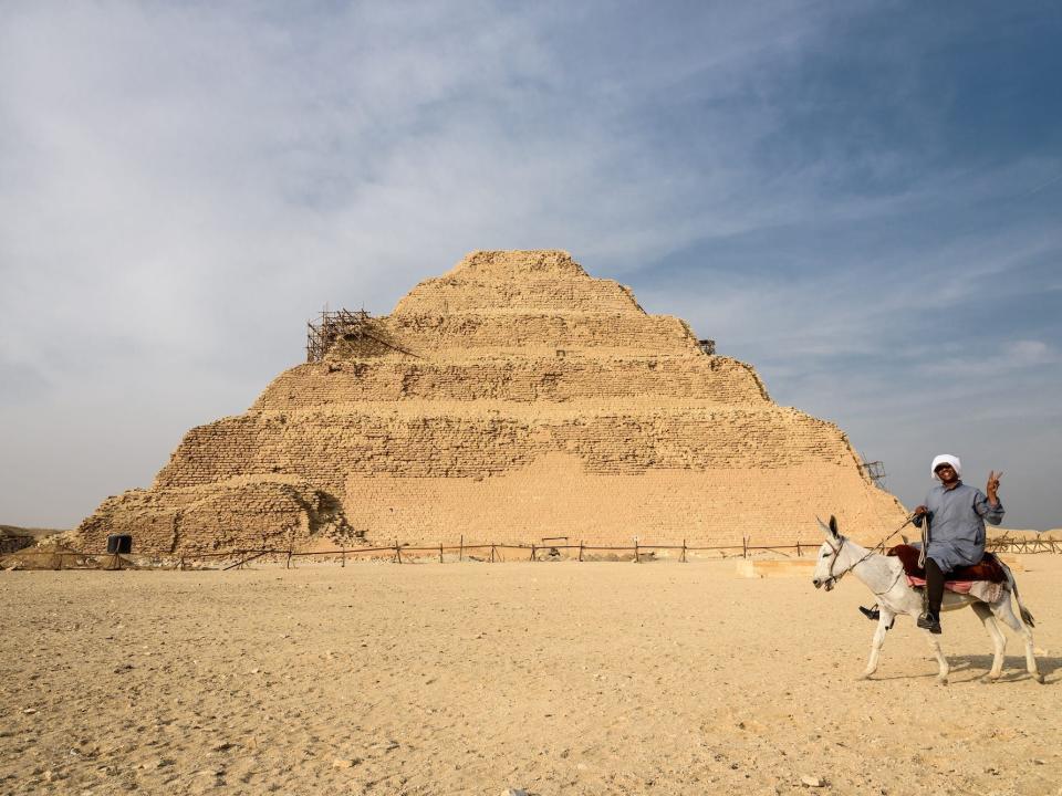
[[[377,556],[377,557],[389,557],[391,561],[395,564],[403,564],[402,555],[406,554],[407,561],[412,557],[428,557],[438,555],[439,563],[446,563],[446,553],[456,552],[458,554],[458,562],[475,561],[475,562],[486,562],[490,564],[506,562],[504,557],[506,551],[521,551],[520,559],[523,559],[522,556],[530,552],[527,561],[530,562],[543,562],[550,561],[551,558],[559,557],[561,551],[577,551],[575,561],[583,562],[585,561],[586,553],[620,553],[620,554],[633,554],[633,562],[641,564],[642,561],[646,557],[650,557],[655,554],[656,551],[679,551],[678,562],[687,563],[688,553],[721,553],[722,557],[729,557],[728,552],[733,552],[732,557],[748,558],[750,554],[754,552],[770,552],[778,553],[780,555],[790,556],[790,553],[787,551],[795,552],[798,558],[803,557],[806,552],[814,553],[818,549],[819,545],[814,543],[806,542],[796,542],[792,545],[752,545],[750,544],[751,537],[743,536],[741,538],[741,544],[731,544],[731,545],[711,545],[711,546],[697,546],[686,544],[686,540],[683,540],[680,545],[670,544],[642,544],[641,542],[635,542],[633,546],[617,546],[617,545],[587,545],[583,542],[579,544],[553,544],[545,542],[542,544],[530,543],[530,544],[499,544],[499,543],[483,543],[468,545],[465,544],[464,537],[457,545],[445,545],[441,542],[437,545],[431,546],[414,546],[410,544],[403,544],[397,540],[393,545],[387,545],[384,547],[337,547],[335,549],[324,549],[324,551],[295,551],[292,548],[252,548],[252,549],[235,549],[226,551],[221,553],[187,553],[187,554],[175,554],[168,551],[144,551],[140,553],[133,554],[137,558],[149,558],[153,562],[157,562],[152,566],[146,568],[154,569],[166,569],[171,568],[176,570],[186,570],[191,564],[198,562],[209,562],[214,559],[220,559],[221,562],[229,562],[222,566],[222,570],[231,569],[242,569],[244,566],[250,564],[253,561],[263,558],[266,556],[275,556],[279,561],[280,558],[284,559],[284,568],[290,569],[292,567],[292,562],[298,558],[340,558],[340,566],[346,566],[346,559],[350,557],[352,561],[357,561],[358,558],[365,556]],[[1009,538],[1002,537],[997,540],[989,540],[986,545],[986,549],[991,553],[1022,553],[1022,554],[1035,554],[1035,553],[1062,553],[1062,540],[1041,540],[1041,538]],[[469,555],[469,551],[481,551],[481,557],[475,557]],[[542,557],[543,551],[546,552],[548,557]],[[32,568],[37,569],[85,569],[85,568],[101,568],[98,565],[101,562],[104,566],[104,569],[123,569],[126,566],[135,566],[134,562],[125,557],[125,555],[111,554],[111,553],[84,553],[80,551],[48,551],[48,549],[38,549],[29,552],[30,555],[40,556],[41,558],[51,558],[52,566],[34,566]],[[417,555],[420,554],[420,555]],[[488,555],[489,554],[489,555]],[[73,565],[64,564],[65,558],[73,558]],[[233,561],[235,559],[235,561]],[[512,559],[516,561],[516,559]],[[90,566],[90,562],[95,566]],[[171,566],[166,566],[171,564]]]

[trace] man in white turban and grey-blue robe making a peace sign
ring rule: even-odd
[[[962,462],[958,457],[941,453],[930,465],[933,478],[940,483],[915,509],[914,524],[923,527],[923,543],[918,565],[926,570],[925,611],[917,625],[939,633],[940,603],[948,574],[958,567],[975,566],[985,557],[985,521],[999,525],[1003,504],[999,500],[999,479],[1002,471],[992,470],[985,486],[979,489],[962,483]],[[877,607],[860,608],[864,616],[877,620]]]

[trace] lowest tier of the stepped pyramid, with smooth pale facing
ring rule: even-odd
[[[867,489],[847,463],[590,472],[579,457],[549,453],[491,478],[355,472],[334,492],[275,474],[132,490],[105,501],[79,532],[84,549],[104,549],[108,533],[131,533],[138,553],[192,556],[394,541],[632,546],[635,536],[642,545],[736,549],[748,541],[792,555],[798,541],[811,549],[820,544],[816,514],[836,514],[845,533],[866,544],[903,522],[892,496]],[[522,561],[527,552],[498,555]]]

